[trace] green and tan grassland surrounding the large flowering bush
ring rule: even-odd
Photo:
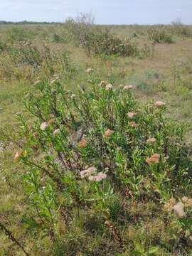
[[[131,38],[139,50],[146,47],[144,56],[90,55],[82,46],[77,46],[70,38],[68,29],[60,25],[19,25],[0,26],[0,220],[11,230],[29,255],[192,255],[190,239],[178,239],[174,231],[169,232],[164,213],[159,213],[154,203],[138,203],[132,207],[130,216],[135,220],[129,228],[122,228],[127,242],[127,251],[118,252],[112,235],[102,236],[100,227],[93,219],[93,229],[97,230],[95,240],[86,240],[86,231],[82,227],[85,221],[83,210],[79,218],[73,220],[68,236],[68,251],[63,254],[62,245],[53,248],[53,241],[38,236],[38,228],[33,222],[34,210],[28,205],[28,193],[23,188],[23,174],[26,167],[15,163],[14,155],[22,145],[21,124],[16,114],[23,112],[23,98],[29,92],[36,93],[37,80],[53,79],[58,75],[63,86],[74,92],[78,85],[87,80],[110,81],[117,85],[137,85],[134,95],[139,103],[148,100],[162,100],[168,106],[168,116],[187,127],[186,145],[188,157],[191,157],[192,143],[192,34],[180,33],[176,28],[165,29],[173,37],[172,43],[154,43],[149,40],[149,26],[109,26],[119,38]],[[161,27],[156,26],[155,29]],[[187,28],[191,31],[191,28]],[[21,62],[22,42],[30,41],[42,55],[39,67],[30,64],[28,59]],[[53,54],[49,55],[49,51]],[[24,53],[25,54],[25,53]],[[24,56],[24,57],[23,57]],[[63,56],[60,61],[59,56]],[[14,62],[14,60],[19,60]],[[45,63],[45,60],[48,60]],[[42,62],[41,62],[42,61]],[[50,67],[51,63],[51,67]],[[63,64],[64,63],[64,64]],[[42,64],[42,65],[41,65]],[[87,73],[92,68],[92,73]],[[26,115],[29,116],[27,113]],[[29,116],[31,120],[31,117]],[[191,170],[192,171],[192,170]],[[190,194],[188,195],[191,196]],[[95,216],[94,216],[95,218]],[[100,222],[100,220],[99,220]],[[87,224],[88,225],[88,224]],[[94,227],[94,225],[96,225]],[[103,227],[101,227],[102,229]],[[60,227],[62,229],[62,227]],[[64,230],[61,233],[65,234]],[[75,230],[75,231],[74,231]],[[180,231],[178,230],[178,233]],[[41,234],[42,235],[42,234]],[[163,242],[162,242],[163,241]],[[90,243],[89,250],[85,246]],[[132,246],[130,245],[132,244]],[[97,245],[97,246],[96,246]],[[136,248],[135,250],[132,247]],[[158,245],[159,250],[149,252]],[[54,245],[55,246],[55,245]],[[75,247],[75,249],[74,249]],[[85,252],[86,247],[86,252]],[[97,247],[97,250],[95,249]],[[84,249],[83,249],[84,248]],[[155,251],[155,250],[154,250]],[[23,255],[22,250],[0,233],[0,255]]]

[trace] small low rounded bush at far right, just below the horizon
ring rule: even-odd
[[[149,40],[154,43],[173,43],[173,37],[166,32],[165,28],[151,28],[147,33]]]

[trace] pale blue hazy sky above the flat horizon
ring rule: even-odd
[[[0,21],[65,21],[80,12],[97,24],[192,24],[192,0],[0,0]]]

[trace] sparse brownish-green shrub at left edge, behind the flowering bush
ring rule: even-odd
[[[63,73],[63,75],[75,72],[75,66],[69,61],[68,52],[59,55],[50,50],[47,44],[38,48],[28,41],[21,42],[17,47],[9,48],[4,55],[1,55],[0,68],[6,77],[14,77],[16,70],[25,68],[31,69],[31,73],[34,70],[39,73],[43,69],[46,75],[50,76],[55,72]]]

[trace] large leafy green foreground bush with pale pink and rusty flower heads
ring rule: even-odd
[[[28,169],[24,181],[41,220],[38,234],[55,245],[63,240],[65,253],[101,250],[92,242],[100,222],[107,241],[100,255],[113,240],[113,253],[122,252],[130,241],[118,227],[129,229],[135,220],[130,208],[152,201],[161,212],[159,203],[190,193],[184,127],[166,117],[163,102],[139,107],[132,86],[114,89],[104,81],[75,95],[59,81],[43,80],[36,90],[24,102],[33,124],[19,115],[25,140],[15,160]]]

